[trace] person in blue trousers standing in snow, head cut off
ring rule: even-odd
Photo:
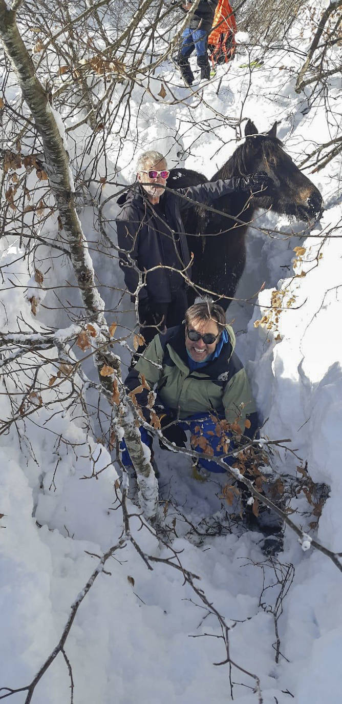
[[[192,2],[187,1],[182,8],[191,10]],[[189,64],[189,56],[196,49],[197,64],[201,69],[201,80],[210,79],[210,63],[208,59],[208,35],[210,34],[215,14],[216,2],[213,0],[200,0],[189,27],[182,34],[182,45],[175,59],[182,77],[187,85],[194,82],[194,74]]]

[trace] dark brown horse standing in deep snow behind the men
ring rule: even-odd
[[[245,268],[246,232],[248,225],[253,223],[255,210],[274,210],[304,221],[317,218],[322,213],[322,196],[282,148],[277,139],[277,122],[274,122],[270,132],[258,134],[253,122],[248,120],[245,136],[245,142],[238,146],[210,181],[262,171],[274,182],[272,193],[268,195],[266,192],[265,196],[253,198],[246,191],[237,191],[215,201],[215,210],[220,213],[196,206],[188,210],[184,218],[189,251],[194,252],[192,280],[203,289],[227,296],[220,300],[225,310],[234,297]],[[167,187],[184,188],[205,181],[208,179],[196,171],[172,169]],[[216,236],[213,237],[213,234]],[[201,289],[198,292],[201,293]],[[190,303],[195,296],[196,293],[191,290]]]

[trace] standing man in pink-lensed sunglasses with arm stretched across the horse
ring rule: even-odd
[[[167,162],[158,151],[145,151],[137,161],[137,183],[118,199],[116,219],[119,265],[132,301],[139,291],[139,320],[146,344],[156,332],[178,325],[188,306],[185,277],[191,277],[190,256],[182,213],[197,203],[213,205],[217,199],[238,189],[251,189],[258,176],[257,190],[267,188],[267,175],[203,183],[184,189],[167,190]],[[184,198],[184,196],[186,196]],[[182,272],[182,273],[180,273]],[[200,345],[201,346],[201,345]],[[144,346],[139,348],[139,353]],[[200,353],[201,354],[201,353]]]

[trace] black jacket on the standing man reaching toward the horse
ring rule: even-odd
[[[172,266],[174,269],[185,268],[189,264],[190,256],[182,212],[193,206],[193,201],[211,205],[221,196],[235,190],[236,181],[232,178],[227,181],[215,181],[200,186],[165,191],[163,220],[167,223],[166,226],[165,222],[160,222],[161,216],[151,206],[139,185],[120,196],[117,202],[122,206],[122,210],[116,220],[120,248],[119,265],[124,272],[125,284],[130,293],[134,294],[139,278],[129,263],[129,257],[135,260],[142,272],[160,264]],[[191,200],[182,198],[182,195]],[[167,234],[167,226],[171,228],[170,234]],[[179,256],[174,253],[170,258],[170,247],[163,246],[163,238],[172,239],[172,231],[175,232],[175,249],[177,247]],[[165,251],[167,251],[167,260],[165,260]],[[186,273],[191,277],[190,270]],[[181,284],[182,278],[179,277],[179,285]],[[146,287],[139,292],[139,301],[153,301],[153,299],[160,303],[170,303],[172,300],[170,276],[166,269],[160,268],[149,272],[146,277]]]

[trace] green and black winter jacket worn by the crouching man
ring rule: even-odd
[[[171,327],[165,334],[158,334],[129,372],[125,385],[129,391],[141,385],[144,375],[148,386],[156,386],[158,401],[181,420],[198,413],[225,416],[230,423],[236,420],[242,432],[245,419],[251,427],[245,433],[255,432],[258,420],[255,403],[246,371],[234,352],[235,335],[226,325],[228,342],[219,356],[194,371],[189,369],[185,346],[185,326]],[[144,408],[148,391],[137,394],[138,403]],[[248,423],[249,425],[249,423]]]

